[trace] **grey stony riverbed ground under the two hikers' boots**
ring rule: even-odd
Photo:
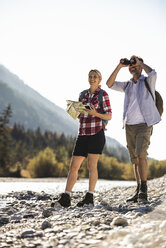
[[[0,195],[0,247],[165,248],[166,176],[148,181],[149,201],[126,203],[134,187],[95,192],[94,207],[51,208],[58,195],[20,191]]]

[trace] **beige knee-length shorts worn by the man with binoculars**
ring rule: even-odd
[[[126,125],[127,148],[132,164],[138,164],[139,155],[148,155],[152,129],[153,126],[148,127],[146,123]]]

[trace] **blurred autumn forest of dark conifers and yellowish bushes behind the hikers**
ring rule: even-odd
[[[45,131],[40,128],[26,130],[15,123],[9,125],[12,116],[10,104],[0,113],[0,177],[66,177],[68,174],[75,138],[63,133]],[[98,162],[99,178],[110,180],[133,180],[133,168],[117,152],[106,146]],[[166,173],[166,160],[148,160],[148,178]],[[79,178],[88,177],[86,159]]]

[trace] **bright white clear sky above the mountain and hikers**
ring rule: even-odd
[[[156,70],[165,100],[165,27],[165,0],[0,0],[0,64],[63,109],[89,88],[88,72],[98,69],[112,107],[106,135],[126,146],[124,94],[106,81],[121,58],[141,56]],[[130,78],[127,68],[117,76]],[[154,126],[149,156],[166,159],[165,142],[166,111]]]

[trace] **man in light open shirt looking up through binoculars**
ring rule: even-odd
[[[123,67],[128,67],[132,78],[128,82],[115,81]],[[133,202],[147,200],[147,150],[153,125],[161,120],[155,102],[145,85],[142,70],[148,75],[146,81],[155,99],[156,72],[137,56],[132,56],[130,60],[121,59],[106,83],[109,88],[125,93],[123,121],[127,148],[137,181],[136,192],[127,201]]]

